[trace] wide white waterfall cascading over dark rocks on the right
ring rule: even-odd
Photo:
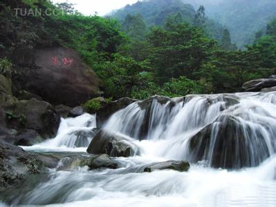
[[[167,159],[210,166],[257,166],[275,152],[276,93],[151,97],[116,112],[105,130],[155,141]]]

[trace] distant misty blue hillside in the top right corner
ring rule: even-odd
[[[251,44],[258,30],[276,15],[274,0],[183,0],[195,8],[203,5],[208,17],[226,26],[239,48]]]

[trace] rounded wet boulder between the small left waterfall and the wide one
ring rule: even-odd
[[[107,154],[111,157],[130,157],[138,155],[138,147],[130,139],[105,130],[100,130],[92,139],[87,152],[89,154]]]

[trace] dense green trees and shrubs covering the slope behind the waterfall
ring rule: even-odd
[[[13,8],[19,6],[44,11],[58,7],[59,12],[16,17]],[[103,96],[113,99],[235,92],[244,81],[267,77],[276,68],[275,20],[253,45],[240,51],[228,30],[223,29],[220,41],[210,36],[204,8],[194,12],[188,7],[187,16],[162,13],[163,23],[150,28],[142,14],[126,15],[121,26],[109,17],[85,17],[66,3],[53,6],[46,0],[3,1],[1,8],[1,64],[30,67],[24,57],[34,48],[61,44],[80,53],[104,82]],[[23,61],[15,59],[20,51]],[[86,107],[98,106],[92,101]]]

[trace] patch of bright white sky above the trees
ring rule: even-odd
[[[66,0],[52,0],[53,3],[60,3]],[[75,4],[75,8],[82,14],[89,15],[98,12],[100,16],[126,6],[136,3],[137,0],[68,0]]]

